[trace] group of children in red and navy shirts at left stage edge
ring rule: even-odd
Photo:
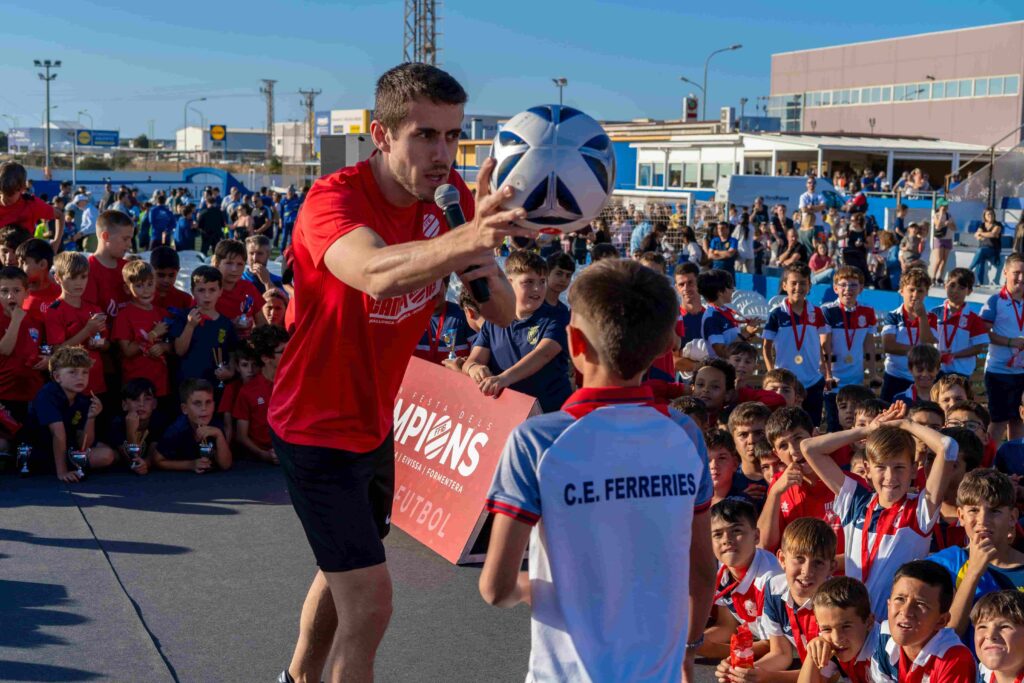
[[[108,210],[97,247],[54,255],[0,230],[0,453],[23,475],[66,482],[123,468],[196,473],[238,458],[276,463],[266,412],[288,341],[291,292],[269,242],[221,240],[175,285],[176,251],[128,253],[135,225]]]

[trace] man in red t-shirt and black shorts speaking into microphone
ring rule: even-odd
[[[511,286],[494,248],[522,210],[488,196],[494,162],[480,169],[474,202],[452,169],[466,93],[444,72],[408,63],[377,83],[368,161],[316,181],[294,232],[295,334],[274,378],[268,422],[273,450],[321,571],[302,609],[299,645],[279,680],[373,678],[391,614],[381,538],[394,485],[394,399],[440,280],[484,280],[487,319],[514,317]],[[434,190],[452,183],[469,222],[449,230]],[[465,272],[470,266],[477,269]],[[335,639],[337,631],[337,639]]]

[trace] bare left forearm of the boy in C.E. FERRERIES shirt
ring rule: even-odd
[[[520,571],[529,531],[529,524],[507,515],[495,515],[479,582],[480,596],[487,604],[514,607],[520,602],[529,603],[529,578]],[[711,539],[710,530],[708,538]]]

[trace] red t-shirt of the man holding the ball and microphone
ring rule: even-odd
[[[467,219],[473,197],[454,170]],[[295,224],[295,333],[278,368],[270,427],[284,440],[366,453],[394,420],[394,398],[441,283],[375,301],[327,268],[324,255],[339,238],[367,226],[388,245],[447,230],[433,202],[388,204],[365,161],[313,184]]]

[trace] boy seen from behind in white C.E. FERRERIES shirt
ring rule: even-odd
[[[641,384],[674,343],[676,295],[609,259],[577,279],[569,307],[583,388],[509,436],[480,594],[530,604],[528,680],[674,683],[702,642],[715,581],[703,438]]]

